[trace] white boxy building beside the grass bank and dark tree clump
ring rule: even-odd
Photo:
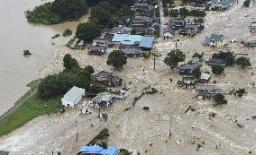
[[[62,105],[73,108],[85,96],[85,93],[85,89],[76,86],[72,87],[61,99]]]

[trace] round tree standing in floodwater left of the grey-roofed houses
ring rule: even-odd
[[[169,65],[171,69],[177,68],[179,62],[185,61],[186,55],[179,49],[171,50],[167,57],[164,59],[164,63]]]

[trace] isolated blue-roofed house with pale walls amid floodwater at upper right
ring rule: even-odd
[[[222,47],[224,46],[224,35],[222,34],[211,34],[206,36],[205,44],[211,47]]]

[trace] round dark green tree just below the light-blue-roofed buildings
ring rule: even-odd
[[[127,57],[122,50],[114,50],[108,55],[106,64],[112,65],[115,68],[122,68],[123,65],[126,65]]]

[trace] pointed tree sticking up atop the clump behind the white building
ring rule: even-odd
[[[77,72],[80,69],[78,61],[71,55],[67,54],[63,57],[64,72]]]

